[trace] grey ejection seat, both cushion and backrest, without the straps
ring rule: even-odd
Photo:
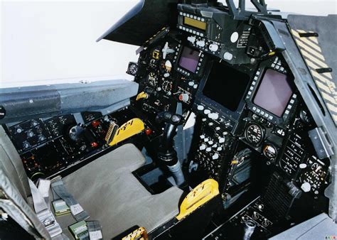
[[[0,156],[0,172],[1,169],[4,172],[0,176],[0,190],[3,188],[4,192],[10,192],[9,195],[12,196],[9,197],[18,206],[21,205],[21,211],[25,212],[35,229],[40,234],[46,234],[46,229],[43,229],[31,211],[33,207],[28,207],[32,206],[28,178],[21,158],[2,127]],[[132,174],[144,163],[141,152],[134,145],[125,144],[63,178],[68,192],[87,211],[90,219],[100,221],[105,239],[111,239],[134,225],[152,231],[178,214],[183,191],[171,187],[165,192],[151,195]],[[14,187],[17,191],[9,190],[9,187]],[[50,198],[51,196],[50,194]],[[63,228],[63,233],[70,236],[68,226],[76,222],[72,215],[56,219]]]

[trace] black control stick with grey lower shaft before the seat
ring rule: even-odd
[[[185,119],[178,114],[172,114],[169,111],[163,111],[156,116],[157,123],[165,123],[164,136],[159,146],[158,158],[161,160],[173,175],[176,185],[181,186],[185,182],[181,163],[178,161],[176,150],[173,147],[173,137],[176,135],[176,129],[183,124]]]

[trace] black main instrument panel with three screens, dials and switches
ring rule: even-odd
[[[233,20],[220,7],[178,4],[176,28],[164,28],[141,47],[134,76],[148,97],[132,105],[156,116],[181,102],[184,116],[196,114],[185,160],[190,184],[218,180],[225,206],[257,187],[265,192],[258,204],[284,204],[287,214],[299,192],[323,197],[329,160],[314,150],[309,131],[317,126],[268,23]],[[273,178],[284,185],[282,196]],[[268,236],[276,219],[254,204],[242,216],[260,219]]]

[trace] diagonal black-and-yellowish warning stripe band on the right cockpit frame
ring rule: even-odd
[[[304,30],[292,29],[291,33],[296,40],[299,50],[301,50],[301,55],[303,56],[306,65],[309,67],[311,76],[313,77],[316,86],[319,88],[319,92],[321,92],[321,97],[324,99],[326,107],[328,108],[333,121],[337,126],[336,84],[333,82],[330,72],[317,72],[318,69],[328,68],[328,65],[326,65],[325,58],[322,54],[321,47],[319,46],[319,40],[314,36],[307,38],[299,36],[299,33],[314,33],[312,31],[306,32]]]

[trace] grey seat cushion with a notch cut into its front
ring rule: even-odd
[[[125,144],[63,178],[68,192],[90,215],[98,220],[105,239],[139,225],[151,231],[178,214],[183,191],[171,187],[151,195],[132,171],[144,165],[141,152]],[[75,223],[70,215],[58,217],[63,232],[70,236],[68,226]]]

